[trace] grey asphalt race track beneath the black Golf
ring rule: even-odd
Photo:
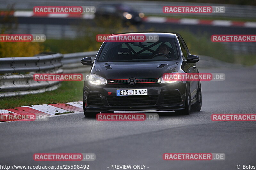
[[[115,164],[146,165],[149,170],[256,166],[256,123],[211,121],[213,113],[256,113],[255,69],[234,66],[199,71],[225,73],[226,80],[202,81],[202,110],[190,115],[157,112],[157,121],[102,122],[73,113],[48,121],[0,123],[0,165],[87,164],[91,170]],[[165,161],[166,152],[225,153],[226,159]],[[34,153],[95,153],[96,160],[34,161]]]

